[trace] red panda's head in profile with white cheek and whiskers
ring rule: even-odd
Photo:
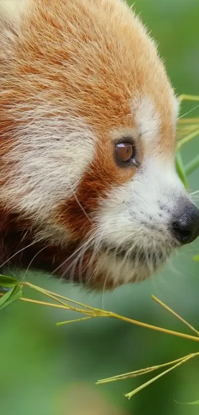
[[[114,288],[193,241],[177,113],[157,46],[124,1],[1,1],[1,272]]]

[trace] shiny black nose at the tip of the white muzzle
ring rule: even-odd
[[[173,236],[182,244],[193,242],[199,236],[199,209],[191,202],[171,224]]]

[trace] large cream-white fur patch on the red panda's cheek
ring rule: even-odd
[[[52,108],[49,110],[52,113]],[[46,223],[45,236],[49,233],[56,238],[58,234],[60,241],[62,231],[52,229],[51,214],[74,194],[93,158],[95,137],[82,119],[69,115],[46,117],[47,111],[42,106],[21,116],[15,131],[16,144],[3,158],[14,165],[0,199],[34,218],[38,225]]]

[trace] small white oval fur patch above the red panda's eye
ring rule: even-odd
[[[149,98],[143,98],[135,110],[135,123],[144,142],[159,138],[160,117]]]

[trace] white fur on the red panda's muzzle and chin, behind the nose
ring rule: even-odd
[[[99,256],[96,269],[106,271],[114,284],[153,274],[150,259],[147,263],[147,252],[155,251],[157,262],[162,262],[162,256],[165,260],[170,255],[173,240],[168,227],[183,197],[188,196],[172,162],[155,157],[146,159],[131,182],[112,190],[101,203],[96,246],[105,245],[107,250]],[[123,258],[116,256],[124,249]],[[130,255],[134,251],[133,265]],[[143,251],[145,265],[139,263],[139,254]]]

